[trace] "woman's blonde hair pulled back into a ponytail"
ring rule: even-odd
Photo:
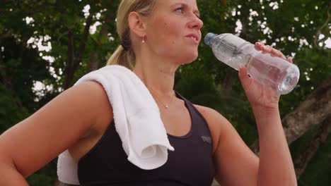
[[[153,13],[156,0],[122,0],[117,9],[117,34],[120,37],[121,45],[117,47],[114,54],[108,59],[107,65],[120,65],[129,69],[135,66],[136,56],[132,49],[130,39],[130,28],[128,23],[129,13],[135,11],[144,16]],[[124,48],[125,49],[124,49]]]

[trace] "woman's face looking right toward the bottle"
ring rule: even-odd
[[[190,63],[198,56],[201,27],[196,0],[161,0],[147,20],[146,44],[158,56]]]

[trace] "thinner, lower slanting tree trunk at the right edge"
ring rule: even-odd
[[[302,173],[305,171],[310,159],[313,158],[318,148],[325,143],[329,130],[331,128],[331,115],[325,119],[315,133],[313,140],[310,141],[306,151],[301,154],[296,161],[294,161],[294,167],[296,168],[296,178],[300,178]]]

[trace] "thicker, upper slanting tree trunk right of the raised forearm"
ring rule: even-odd
[[[312,92],[298,108],[286,115],[281,122],[288,144],[297,140],[311,127],[323,123],[331,113],[331,76]],[[259,151],[258,142],[250,147]]]

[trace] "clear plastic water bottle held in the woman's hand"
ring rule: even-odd
[[[238,70],[248,68],[248,75],[279,94],[288,94],[296,87],[300,71],[293,63],[255,49],[255,45],[232,34],[208,33],[204,42],[211,46],[219,61]]]

